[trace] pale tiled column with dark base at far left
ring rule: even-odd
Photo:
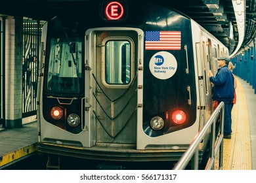
[[[5,32],[5,127],[22,127],[22,18],[7,18]]]

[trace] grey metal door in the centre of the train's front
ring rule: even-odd
[[[142,31],[97,28],[89,29],[86,35],[96,143],[135,144]]]

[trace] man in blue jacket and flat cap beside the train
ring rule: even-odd
[[[218,58],[217,75],[214,77],[209,71],[210,80],[214,85],[213,101],[224,102],[224,139],[231,139],[231,110],[234,99],[234,76],[228,69],[229,62],[228,56],[222,56]]]

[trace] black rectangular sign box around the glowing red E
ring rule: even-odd
[[[124,21],[127,19],[126,1],[102,2],[102,19],[109,21]]]

